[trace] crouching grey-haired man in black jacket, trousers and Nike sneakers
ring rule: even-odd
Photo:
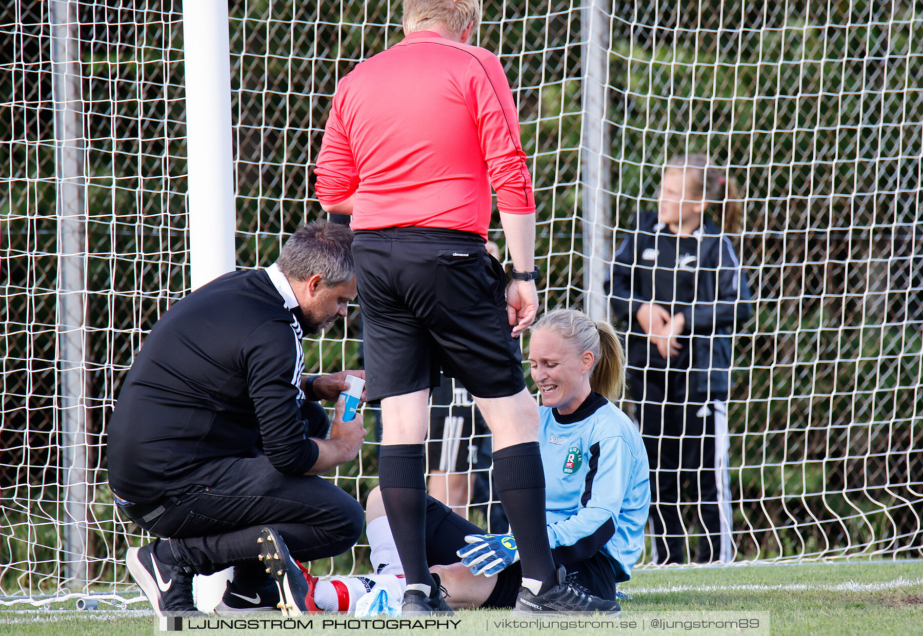
[[[353,460],[366,434],[361,419],[342,422],[342,402],[332,425],[317,403],[339,398],[346,372],[302,378],[303,334],[356,295],[352,241],[342,225],[299,228],[270,268],[177,302],[136,355],[108,427],[109,482],[122,513],[162,537],[126,558],[159,615],[194,612],[193,575],[229,566],[219,610],[275,609],[259,559],[268,534],[312,560],[362,533],[359,503],[318,476]]]

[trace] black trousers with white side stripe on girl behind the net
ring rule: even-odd
[[[680,508],[688,505],[702,530],[696,560],[729,560],[726,447],[715,452],[716,416],[723,417],[724,402],[691,390],[685,370],[632,368],[629,382],[651,465],[654,558],[658,563],[686,560]]]

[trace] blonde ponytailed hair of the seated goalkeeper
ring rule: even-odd
[[[570,342],[581,354],[593,354],[590,388],[611,402],[625,392],[625,349],[608,322],[596,322],[582,311],[557,308],[533,325],[533,331],[549,330]]]

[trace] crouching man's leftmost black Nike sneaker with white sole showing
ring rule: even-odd
[[[132,578],[158,616],[205,616],[196,609],[192,598],[192,570],[167,565],[155,557],[158,541],[128,548],[126,564]]]

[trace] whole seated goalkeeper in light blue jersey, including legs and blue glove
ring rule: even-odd
[[[651,504],[641,434],[610,402],[624,389],[625,354],[608,323],[556,309],[533,326],[529,362],[543,402],[538,438],[558,580],[615,601],[617,583],[629,580],[641,557]],[[427,504],[433,540],[426,545],[449,605],[513,606],[521,584],[513,537],[472,531],[476,526],[444,508]],[[372,563],[378,572],[400,573],[383,514],[373,491],[366,509]]]

